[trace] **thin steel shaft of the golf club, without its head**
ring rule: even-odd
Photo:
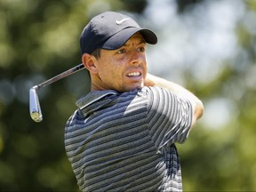
[[[44,86],[47,86],[48,84],[52,84],[52,83],[54,83],[54,82],[60,80],[61,78],[64,78],[64,77],[69,76],[69,75],[71,75],[71,74],[74,74],[74,73],[76,73],[77,71],[80,71],[80,70],[82,70],[82,69],[84,69],[84,64],[83,64],[83,63],[77,65],[77,66],[74,67],[74,68],[70,68],[70,69],[68,69],[67,71],[64,71],[63,73],[61,73],[61,74],[58,75],[58,76],[53,76],[51,79],[48,79],[48,80],[44,81],[44,82],[41,83],[41,84],[35,85],[33,88],[34,88],[35,90],[38,90],[38,89],[40,89],[40,88],[42,88],[42,87],[44,87]]]

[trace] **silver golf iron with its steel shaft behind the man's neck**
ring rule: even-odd
[[[64,71],[63,73],[61,73],[58,76],[53,76],[51,79],[48,79],[48,80],[44,81],[43,83],[37,84],[37,85],[33,86],[32,88],[30,88],[30,90],[29,90],[29,112],[30,112],[31,118],[35,122],[41,122],[43,120],[43,114],[42,114],[42,111],[40,108],[40,103],[39,103],[38,95],[37,95],[36,91],[43,88],[44,86],[47,86],[48,84],[52,84],[52,83],[60,80],[61,78],[70,76],[71,74],[74,74],[82,69],[84,69],[83,63],[77,65],[74,68],[70,68],[67,71]]]

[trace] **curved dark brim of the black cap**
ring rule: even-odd
[[[108,40],[104,44],[100,45],[100,48],[106,50],[116,50],[120,48],[123,44],[125,44],[125,42],[127,42],[128,39],[131,38],[131,36],[133,36],[135,33],[139,31],[141,35],[144,37],[146,43],[157,43],[156,34],[148,28],[124,28],[122,31],[108,38]]]

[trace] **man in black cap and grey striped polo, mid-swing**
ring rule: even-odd
[[[178,84],[147,72],[156,35],[132,18],[103,12],[80,37],[92,92],[76,102],[65,147],[83,191],[181,191],[183,143],[203,104]],[[161,66],[161,63],[159,63]]]

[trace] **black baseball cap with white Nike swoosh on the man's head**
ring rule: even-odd
[[[91,54],[97,48],[116,50],[138,31],[146,43],[157,43],[155,33],[148,28],[140,28],[132,18],[119,12],[103,12],[85,26],[80,36],[81,52]]]

